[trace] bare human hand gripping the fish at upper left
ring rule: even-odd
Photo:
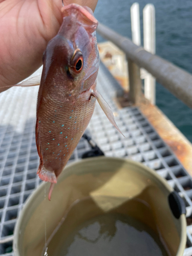
[[[93,11],[98,0],[63,0]],[[0,0],[0,92],[31,75],[61,24],[61,0]]]

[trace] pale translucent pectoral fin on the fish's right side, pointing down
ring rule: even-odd
[[[92,95],[97,99],[97,101],[99,102],[99,105],[101,106],[101,109],[103,110],[104,114],[106,115],[106,117],[110,120],[110,122],[115,126],[115,128],[117,129],[117,131],[119,131],[121,133],[121,131],[119,130],[119,127],[117,126],[116,122],[115,122],[115,118],[113,115],[113,112],[110,108],[110,106],[108,105],[108,103],[106,103],[106,101],[103,99],[103,97],[101,96],[101,94],[97,91],[97,90],[92,90]],[[122,134],[122,133],[121,133]],[[123,135],[123,134],[122,134]],[[124,136],[124,135],[123,135]]]

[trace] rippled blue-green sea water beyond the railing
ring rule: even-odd
[[[156,54],[192,73],[192,1],[139,0],[141,38],[142,10],[154,4],[156,10]],[[98,0],[95,17],[99,22],[131,38],[129,0]],[[98,36],[98,41],[103,39]],[[192,100],[192,99],[191,99]],[[192,142],[192,110],[170,94],[161,84],[156,86],[156,104]]]

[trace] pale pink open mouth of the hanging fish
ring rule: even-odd
[[[67,16],[76,17],[82,26],[91,33],[93,33],[98,26],[97,19],[93,16],[92,10],[87,6],[70,4],[62,7],[61,12],[63,18]]]

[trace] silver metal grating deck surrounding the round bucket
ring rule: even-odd
[[[40,71],[38,71],[40,72]],[[110,104],[120,135],[98,103],[88,129],[106,156],[131,158],[153,168],[184,199],[187,211],[185,256],[192,255],[192,179],[137,108],[118,110],[113,97],[117,81],[100,65],[98,90]],[[0,239],[9,238],[24,202],[39,185],[39,158],[35,144],[35,108],[38,87],[11,88],[0,94]],[[81,139],[69,162],[89,150]],[[0,255],[12,256],[12,241],[0,244]]]

